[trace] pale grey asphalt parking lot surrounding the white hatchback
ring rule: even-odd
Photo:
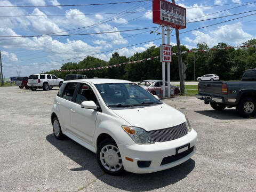
[[[188,116],[196,154],[169,170],[113,177],[91,151],[54,138],[57,92],[0,87],[0,191],[256,191],[256,118],[215,111],[194,97],[163,100]]]

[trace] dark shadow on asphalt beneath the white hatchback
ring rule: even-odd
[[[69,138],[57,140],[53,134],[47,135],[46,140],[59,149],[63,155],[81,166],[70,169],[71,171],[88,170],[99,180],[107,183],[107,185],[122,190],[148,191],[172,185],[186,178],[195,167],[195,161],[189,159],[181,165],[156,173],[134,174],[125,172],[119,176],[112,176],[103,174],[103,171],[98,166],[96,155],[75,141]]]

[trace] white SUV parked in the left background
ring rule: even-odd
[[[28,86],[30,90],[43,89],[50,90],[53,86],[61,86],[63,79],[50,74],[33,74],[28,77]]]

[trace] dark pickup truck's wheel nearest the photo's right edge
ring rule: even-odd
[[[254,117],[256,115],[256,100],[246,97],[239,102],[236,110],[242,117]]]

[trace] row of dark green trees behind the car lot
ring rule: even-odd
[[[256,39],[250,39],[243,45],[256,45]],[[221,80],[239,80],[246,69],[256,68],[256,47],[242,47],[235,49],[221,49],[230,47],[226,43],[218,43],[212,47],[214,50],[208,52],[199,51],[196,53],[182,54],[182,62],[185,63],[186,81],[194,81],[194,59],[196,67],[196,78],[205,74],[218,74]],[[207,50],[209,46],[206,43],[198,43],[197,49]],[[181,51],[188,51],[186,46],[181,45]],[[172,47],[172,52],[177,53],[177,46]],[[152,46],[146,51],[135,53],[131,57],[119,55],[117,52],[112,54],[110,60],[104,61],[95,57],[88,56],[79,62],[67,62],[61,66],[61,69],[86,69],[116,65],[123,62],[137,61],[141,59],[156,57],[160,54],[159,47]],[[167,73],[167,65],[165,65]],[[178,56],[172,55],[171,62],[171,81],[179,81]],[[160,59],[147,60],[139,63],[122,65],[119,67],[78,71],[78,72],[63,72],[63,71],[47,71],[46,73],[54,74],[59,78],[64,78],[67,74],[83,74],[88,78],[115,78],[127,79],[129,81],[142,81],[145,79],[162,79],[162,63]],[[165,75],[167,77],[167,74]]]

